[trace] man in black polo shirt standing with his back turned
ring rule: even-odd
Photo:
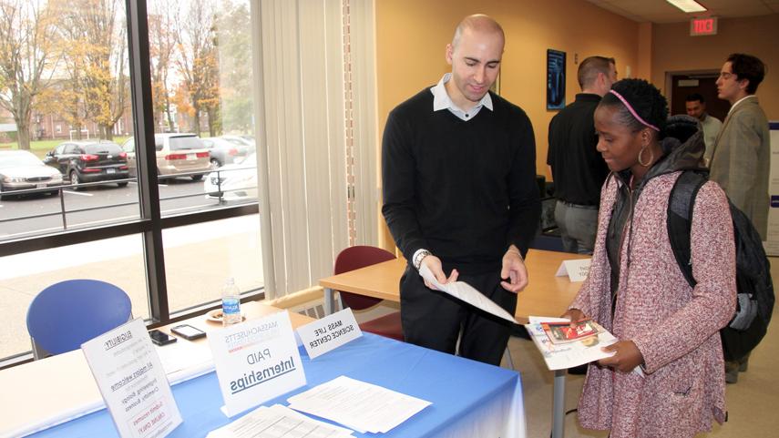
[[[579,64],[581,93],[549,122],[547,164],[555,181],[555,221],[563,248],[592,254],[598,229],[600,187],[609,175],[596,150],[593,115],[600,97],[617,81],[614,58],[589,56]]]

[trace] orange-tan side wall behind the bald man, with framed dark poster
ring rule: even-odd
[[[579,61],[614,56],[624,76],[638,67],[639,25],[581,0],[377,0],[376,66],[379,132],[392,108],[451,71],[444,51],[455,26],[466,15],[491,15],[506,32],[500,94],[522,107],[533,123],[538,174],[548,176],[547,131],[556,111],[546,108],[547,49],[566,52],[566,103],[579,92]],[[648,70],[647,70],[648,71]]]

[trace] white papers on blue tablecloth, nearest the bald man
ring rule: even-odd
[[[290,407],[359,433],[386,433],[432,404],[371,383],[340,376],[293,395]]]

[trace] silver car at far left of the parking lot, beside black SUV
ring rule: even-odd
[[[0,199],[12,190],[27,188],[55,188],[55,194],[62,185],[62,174],[56,168],[46,166],[43,161],[27,150],[0,151]]]

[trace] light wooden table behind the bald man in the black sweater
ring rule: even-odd
[[[514,312],[517,320],[524,324],[530,315],[557,317],[565,312],[581,283],[571,282],[568,276],[556,277],[555,273],[563,260],[587,258],[589,256],[569,252],[528,250],[525,266],[529,282],[517,297],[517,310]],[[319,285],[324,288],[325,313],[335,310],[336,290],[400,302],[400,278],[405,266],[405,259],[395,259],[319,280]],[[565,375],[565,370],[555,371],[552,438],[563,438],[565,434]]]

